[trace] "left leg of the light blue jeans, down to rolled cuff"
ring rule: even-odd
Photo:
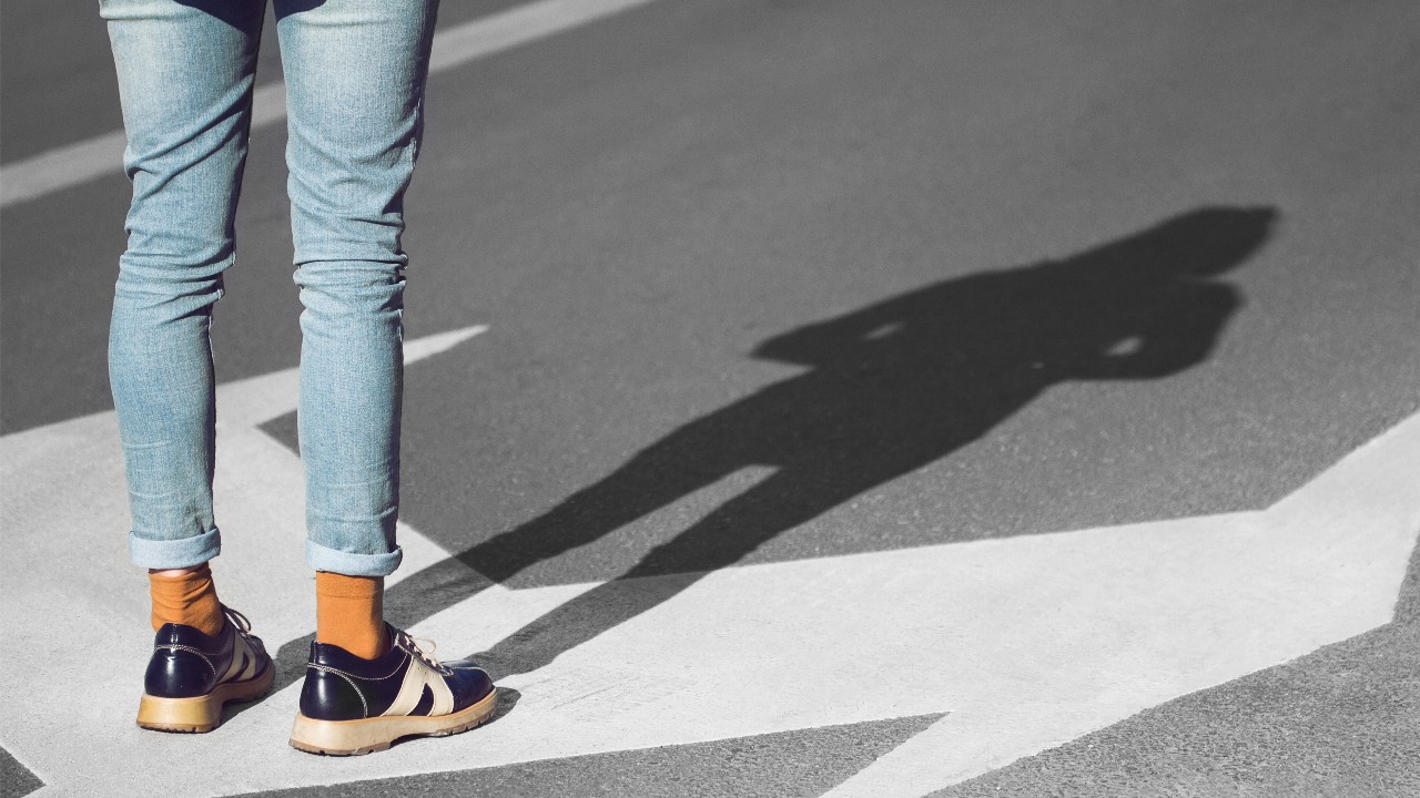
[[[220,551],[207,332],[222,273],[234,258],[263,0],[207,4],[222,17],[203,3],[99,4],[133,183],[109,379],[133,520],[129,550],[151,569],[197,567]]]

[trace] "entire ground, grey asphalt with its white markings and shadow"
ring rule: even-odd
[[[133,726],[112,62],[91,3],[7,0],[0,791],[1420,794],[1420,6],[439,30],[389,615],[486,662],[500,716],[287,745],[314,602],[267,37],[214,571],[278,689]]]

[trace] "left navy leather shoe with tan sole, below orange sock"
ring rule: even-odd
[[[223,606],[222,632],[204,635],[182,623],[163,623],[143,676],[138,726],[159,731],[212,731],[227,701],[250,701],[271,689],[275,667],[251,622]]]

